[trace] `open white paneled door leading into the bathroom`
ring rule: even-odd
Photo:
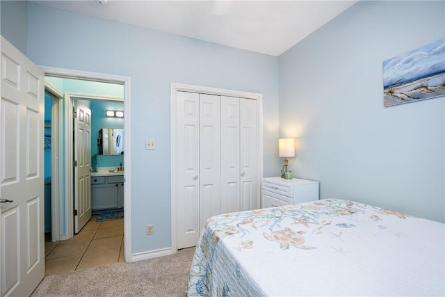
[[[91,111],[74,100],[74,233],[91,218]]]

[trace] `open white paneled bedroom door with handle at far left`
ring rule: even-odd
[[[44,73],[1,37],[1,296],[44,277],[43,126]]]

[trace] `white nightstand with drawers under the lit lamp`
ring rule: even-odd
[[[318,200],[318,182],[266,177],[261,180],[261,207],[277,207]]]

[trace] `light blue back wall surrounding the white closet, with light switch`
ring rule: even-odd
[[[171,246],[170,83],[262,93],[264,175],[277,175],[277,57],[35,4],[27,42],[38,65],[131,77],[132,253]],[[157,149],[145,150],[145,139]],[[154,235],[145,235],[147,224]]]

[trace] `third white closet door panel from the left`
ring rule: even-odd
[[[239,98],[221,97],[221,212],[241,209]]]

